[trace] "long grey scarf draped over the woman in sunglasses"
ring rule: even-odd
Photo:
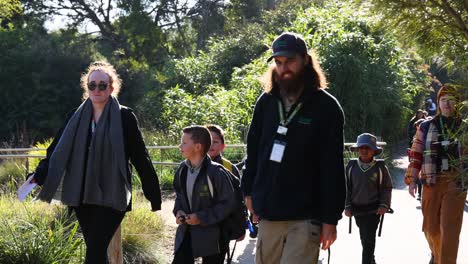
[[[88,145],[93,106],[84,101],[68,121],[49,161],[49,172],[38,198],[69,206],[82,203],[125,211],[131,198],[127,179],[122,118],[111,96]]]

